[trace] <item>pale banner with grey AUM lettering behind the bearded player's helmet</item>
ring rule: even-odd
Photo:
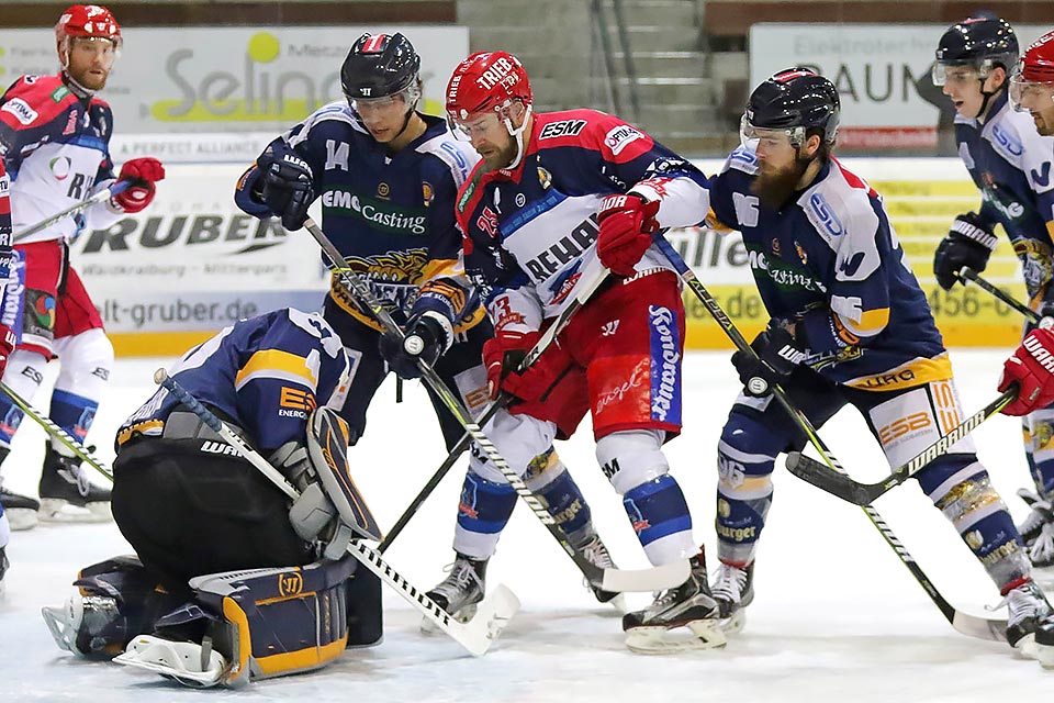
[[[831,79],[842,101],[843,149],[930,148],[938,122],[951,125],[951,101],[933,86],[933,52],[948,25],[754,24],[750,86],[790,66]],[[1016,25],[1022,48],[1050,30]],[[929,153],[933,153],[930,150]]]

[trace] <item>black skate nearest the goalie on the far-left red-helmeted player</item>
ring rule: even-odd
[[[113,518],[110,490],[88,480],[80,458],[59,454],[48,442],[41,472],[41,520],[56,523],[101,523]]]

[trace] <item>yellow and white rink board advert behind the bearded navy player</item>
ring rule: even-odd
[[[956,286],[945,292],[933,278],[933,252],[948,234],[955,215],[977,211],[980,193],[957,158],[853,158],[842,164],[867,180],[886,203],[893,227],[933,311],[948,346],[1012,347],[1021,337],[1022,316],[976,286]],[[707,174],[721,163],[700,160]],[[997,227],[999,246],[984,277],[1010,295],[1024,301],[1024,283],[1010,241]],[[668,238],[721,303],[748,339],[769,321],[754,288],[747,250],[738,232],[721,235],[705,227],[671,231]],[[731,348],[731,343],[691,291],[687,310],[687,346],[696,349]]]

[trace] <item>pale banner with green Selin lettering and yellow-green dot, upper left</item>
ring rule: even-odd
[[[406,35],[422,59],[423,108],[441,114],[447,79],[469,53],[463,26],[130,27],[100,96],[119,134],[277,133],[343,98],[340,65],[362,32]],[[57,70],[51,29],[0,30],[7,82]]]

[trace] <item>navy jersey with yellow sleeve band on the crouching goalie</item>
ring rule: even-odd
[[[303,440],[307,415],[317,405],[343,406],[349,364],[337,333],[322,315],[285,308],[224,328],[168,372],[266,453]],[[117,446],[135,433],[160,436],[165,420],[179,408],[179,401],[159,388],[121,425]]]

